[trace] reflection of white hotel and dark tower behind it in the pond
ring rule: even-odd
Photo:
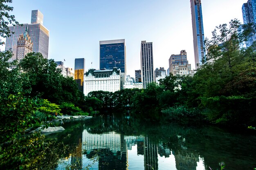
[[[127,170],[128,154],[124,135],[115,132],[91,134],[83,131],[83,150],[87,157],[99,155],[99,170]]]

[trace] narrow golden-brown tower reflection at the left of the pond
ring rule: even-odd
[[[82,142],[81,138],[79,139],[79,144],[74,150],[74,155],[71,157],[72,168],[81,170],[82,169]]]

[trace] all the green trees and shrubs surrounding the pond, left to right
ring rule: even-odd
[[[0,2],[1,37],[10,34],[8,24],[18,24],[8,14],[13,10],[9,2]],[[51,125],[54,113],[87,115],[115,109],[157,121],[255,126],[256,44],[240,48],[252,34],[253,25],[231,20],[229,26],[217,26],[212,39],[206,40],[208,53],[194,76],[170,75],[147,89],[88,96],[73,78],[61,75],[54,60],[29,53],[20,63],[9,62],[12,52],[1,51],[0,169],[54,169],[56,164],[47,163],[49,154],[56,155],[52,143],[40,133],[25,135],[27,129]]]

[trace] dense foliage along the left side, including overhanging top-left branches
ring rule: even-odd
[[[18,24],[8,14],[13,9],[8,2],[0,2],[1,37],[10,34],[7,24]],[[73,78],[61,75],[53,60],[29,53],[20,63],[9,62],[12,55],[11,51],[0,52],[0,169],[54,169],[65,153],[58,150],[60,144],[46,141],[38,132],[27,132],[52,126],[52,115],[61,111],[86,114],[79,108],[85,109],[85,96]]]

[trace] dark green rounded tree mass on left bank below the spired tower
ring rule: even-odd
[[[73,78],[62,76],[54,60],[44,59],[40,53],[29,53],[19,66],[29,80],[24,84],[24,89],[31,89],[29,96],[38,96],[56,104],[72,102],[84,105],[84,94],[79,91]]]

